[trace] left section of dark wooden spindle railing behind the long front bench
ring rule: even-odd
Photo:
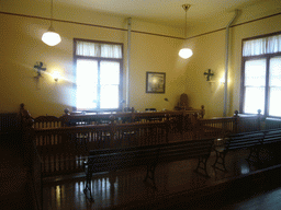
[[[89,150],[168,142],[167,122],[108,124],[32,129],[43,176],[81,172]]]

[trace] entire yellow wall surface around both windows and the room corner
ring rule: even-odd
[[[33,3],[32,0],[24,0],[23,4],[16,2],[19,1],[11,0],[0,4],[0,113],[18,112],[19,105],[24,103],[33,117],[46,114],[60,116],[66,107],[70,108],[74,105],[74,38],[124,43],[125,75],[126,18],[100,14],[87,9],[81,12],[71,5],[58,5],[54,11],[56,19],[70,22],[54,22],[54,27],[63,37],[63,42],[49,47],[41,40],[42,34],[49,27],[49,21],[38,19],[48,18],[48,10],[45,9],[47,5],[42,5],[42,2],[37,1]],[[262,16],[260,7],[251,7],[251,11],[249,8],[246,8],[246,12],[235,22],[238,25],[231,30],[228,115],[233,115],[233,112],[239,108],[241,39],[281,31],[280,14],[244,24],[252,18]],[[265,15],[276,12],[272,7],[271,10],[267,10]],[[146,107],[172,109],[180,94],[186,92],[191,107],[205,106],[207,118],[223,116],[224,85],[220,80],[225,66],[225,30],[220,28],[225,27],[232,16],[233,13],[225,16],[223,22],[217,21],[213,28],[204,27],[207,22],[189,27],[190,38],[186,42],[181,38],[182,28],[133,19],[130,106],[137,110],[144,110]],[[216,19],[218,18],[214,18]],[[220,31],[212,32],[215,30]],[[178,57],[178,51],[183,46],[190,47],[194,52],[188,60]],[[36,61],[43,61],[47,66],[44,78],[38,81],[34,79],[36,72],[33,66]],[[206,82],[203,75],[207,69],[215,73],[212,82]],[[49,75],[55,70],[64,78],[58,82]],[[166,72],[165,94],[146,93],[146,71]],[[169,102],[164,101],[165,97]]]

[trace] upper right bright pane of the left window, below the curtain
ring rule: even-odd
[[[101,84],[120,83],[120,63],[114,61],[101,61]]]

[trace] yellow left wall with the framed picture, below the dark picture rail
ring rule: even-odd
[[[74,106],[74,38],[124,43],[125,75],[127,32],[124,30],[54,22],[63,40],[49,47],[41,40],[49,26],[47,20],[1,13],[0,23],[0,112],[18,112],[19,105],[24,103],[34,117],[46,114],[60,116],[66,107]],[[147,24],[146,30],[149,26],[151,32],[157,33],[155,24]],[[169,30],[167,27],[166,32]],[[132,33],[131,106],[137,110],[146,107],[173,108],[176,100],[183,93],[181,74],[187,61],[179,60],[177,56],[182,42],[182,38]],[[38,80],[34,78],[36,72],[33,66],[36,61],[43,61],[47,67],[46,73]],[[54,71],[59,71],[64,79],[55,82],[49,75]],[[145,93],[146,71],[166,72],[165,94]],[[165,97],[170,102],[165,102]]]

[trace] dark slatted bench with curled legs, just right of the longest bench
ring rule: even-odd
[[[213,167],[221,171],[227,171],[225,166],[225,156],[228,153],[228,151],[232,150],[250,149],[248,160],[250,160],[250,158],[254,156],[254,153],[256,153],[256,155],[259,156],[259,150],[262,144],[263,137],[265,132],[254,131],[236,133],[228,136],[224,139],[217,139],[214,144],[216,159],[215,163],[213,164]],[[222,143],[220,143],[220,141]],[[220,167],[218,165],[221,165],[223,168]]]

